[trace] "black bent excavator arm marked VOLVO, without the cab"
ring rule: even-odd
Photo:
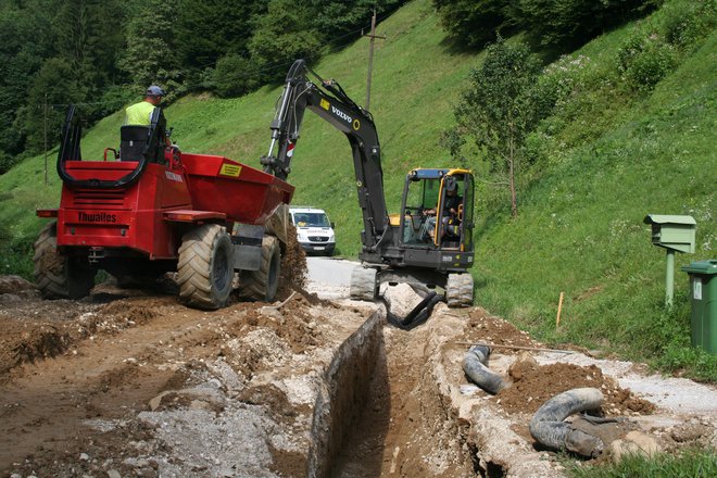
[[[307,78],[314,76],[317,83]],[[320,86],[319,86],[320,85]],[[286,179],[291,172],[306,109],[327,121],[349,139],[353,152],[358,205],[364,221],[362,242],[367,252],[390,240],[389,216],[383,197],[383,172],[378,133],[370,113],[347,96],[334,80],[325,80],[304,60],[297,60],[287,74],[284,92],[272,122],[272,142],[262,164],[266,173]]]

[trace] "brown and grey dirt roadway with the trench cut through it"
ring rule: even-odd
[[[442,304],[422,327],[390,328],[380,306],[318,275],[314,293],[216,312],[111,285],[43,301],[4,278],[0,476],[559,476],[527,424],[544,400],[584,386],[603,391],[606,415],[629,418],[615,439],[717,444],[714,387],[496,349],[490,366],[513,386],[489,395],[468,383],[456,342],[540,344],[480,309]],[[387,293],[406,307],[417,299]]]

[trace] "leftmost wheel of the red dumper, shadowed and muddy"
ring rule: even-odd
[[[35,241],[35,282],[46,299],[79,299],[95,286],[97,271],[87,257],[58,253],[58,224],[50,223]]]

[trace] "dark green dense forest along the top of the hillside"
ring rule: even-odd
[[[67,104],[90,123],[150,84],[172,101],[240,97],[367,34],[405,0],[0,0],[0,174],[56,144]],[[433,0],[458,50],[529,32],[556,52],[644,14],[658,0]]]

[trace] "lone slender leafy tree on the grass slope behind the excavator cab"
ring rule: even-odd
[[[539,74],[540,63],[528,47],[508,45],[499,36],[488,47],[483,64],[470,71],[470,84],[454,111],[457,133],[473,138],[486,152],[493,174],[507,176],[504,184],[511,190],[514,217],[518,214],[516,171],[521,149],[539,120],[533,95]]]

